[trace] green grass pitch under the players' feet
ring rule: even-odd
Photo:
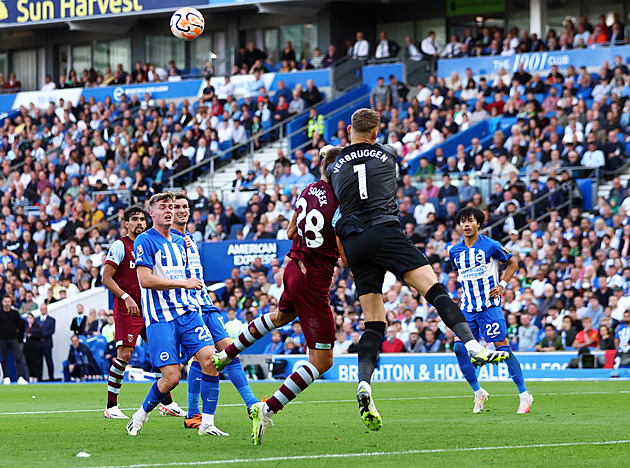
[[[278,383],[256,383],[271,395]],[[125,384],[131,415],[149,384]],[[154,411],[137,437],[103,418],[105,384],[0,387],[0,466],[627,466],[630,385],[532,382],[529,414],[515,414],[512,383],[486,383],[486,411],[472,414],[465,383],[375,383],[379,432],[359,417],[356,384],[317,383],[274,417],[262,445],[238,393],[221,383],[217,426],[228,438],[198,436],[183,419]],[[186,384],[173,392],[186,406]],[[79,452],[91,454],[78,458]]]

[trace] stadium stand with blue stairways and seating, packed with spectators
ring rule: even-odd
[[[479,37],[452,38],[436,54],[439,60],[474,60],[627,43],[618,18],[605,31],[601,22],[588,26],[567,22],[561,33],[550,31],[544,39],[485,28]],[[433,55],[424,41],[409,42],[408,59]],[[342,58],[326,57],[331,60],[319,65]],[[401,226],[451,297],[460,298],[447,255],[460,240],[455,213],[472,204],[486,213],[485,232],[519,256],[520,270],[504,297],[513,349],[523,350],[519,328],[535,327],[539,343],[548,324],[562,349],[582,348],[576,336],[585,317],[596,330],[590,347],[614,349],[611,336],[630,306],[625,57],[602,60],[596,70],[574,64],[544,74],[521,68],[476,75],[468,69],[463,78],[432,75],[415,87],[394,75],[375,75],[382,81],[341,95],[326,90],[317,98],[317,86],[300,82],[299,73],[289,90],[285,83],[258,86],[260,72],[297,70],[296,62],[250,64],[251,57],[245,58],[234,74],[255,73],[256,79],[242,96],[208,81],[200,99],[123,94],[114,103],[81,97],[77,103],[52,102],[44,111],[33,105],[7,114],[0,122],[0,296],[14,297],[20,312],[37,315],[40,304],[101,287],[103,255],[125,233],[123,210],[171,187],[184,188],[192,200],[189,230],[198,242],[286,240],[300,190],[319,177],[319,148],[347,145],[352,111],[371,105],[382,119],[378,141],[399,156]],[[378,73],[384,58],[393,57],[373,57],[366,67],[376,66]],[[159,77],[153,65],[138,63],[132,73],[87,72],[79,79],[71,71],[56,86]],[[0,87],[15,92],[18,78],[2,77]],[[258,258],[216,285],[215,303],[233,333],[277,307],[281,273],[281,261],[262,264]],[[405,349],[416,352],[416,340],[432,330],[439,350],[452,350],[452,333],[415,291],[388,277],[383,293],[388,326],[396,327]],[[330,295],[338,331],[354,342],[363,322],[352,276],[341,263]],[[523,315],[531,325],[521,323]],[[289,326],[282,332],[283,341],[292,338],[292,349],[304,351],[299,331]],[[107,341],[98,334],[85,341],[105,372]],[[336,348],[348,352],[341,343]],[[143,367],[146,350],[135,359]]]

